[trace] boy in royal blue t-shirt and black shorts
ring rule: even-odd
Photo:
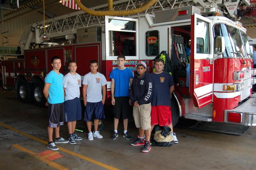
[[[114,106],[114,133],[110,139],[115,140],[118,137],[117,127],[118,121],[122,115],[124,121],[123,137],[131,140],[132,137],[127,134],[128,128],[128,113],[129,113],[129,83],[132,84],[132,70],[124,67],[125,56],[118,55],[117,57],[118,68],[112,70],[111,78],[111,95],[112,105]]]

